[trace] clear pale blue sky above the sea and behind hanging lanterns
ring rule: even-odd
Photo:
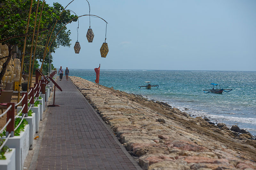
[[[46,0],[66,6],[71,0]],[[109,52],[100,56],[106,23],[91,17],[92,43],[86,39],[89,17],[68,24],[71,46],[55,50],[53,65],[69,69],[256,71],[255,0],[88,0],[91,14],[108,22]],[[85,0],[67,9],[89,14]]]

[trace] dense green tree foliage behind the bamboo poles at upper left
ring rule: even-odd
[[[56,20],[58,20],[58,22],[53,30],[51,41],[62,26],[68,23],[68,21],[71,20],[72,18],[76,17],[75,15],[71,15],[70,11],[63,11],[64,7],[59,3],[54,3],[53,6],[50,6],[49,4],[44,4],[43,11],[41,11],[42,4],[43,2],[40,1],[38,14],[37,14],[36,30],[37,30],[39,16],[41,12],[42,12],[42,18],[41,18],[41,23],[39,27],[39,33],[37,34],[38,41],[37,41],[37,47],[36,47],[36,54],[33,54],[33,56],[35,55],[36,59],[39,59],[40,61],[42,61],[43,59],[44,47],[45,47],[45,43],[47,41],[49,32],[52,31],[52,28]],[[33,34],[34,22],[36,18],[36,7],[37,7],[37,1],[34,0],[31,16],[30,16],[30,22],[28,26],[25,56],[30,55],[32,34]],[[13,45],[18,45],[21,51],[23,49],[24,37],[25,37],[26,27],[28,22],[29,8],[30,8],[30,1],[28,0],[0,0],[0,43],[7,44],[9,49],[12,48]],[[61,11],[63,11],[63,13],[60,16]],[[73,21],[77,21],[77,19],[74,19]],[[64,29],[58,34],[57,38],[52,43],[50,52],[55,52],[55,49],[59,48],[60,46],[70,47],[71,40],[69,36],[70,36],[70,30],[67,30],[67,28],[64,27]],[[35,43],[35,40],[33,43]],[[24,63],[27,62],[26,60],[28,58],[29,57],[24,58],[25,59]],[[45,62],[49,62],[49,58],[48,60],[46,59]],[[2,72],[3,71],[5,72],[4,69],[2,70]],[[2,79],[1,75],[2,74],[0,74],[0,80]]]

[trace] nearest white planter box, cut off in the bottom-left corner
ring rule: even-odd
[[[10,148],[10,152],[5,152],[5,160],[0,160],[1,170],[14,170],[15,169],[15,148]]]

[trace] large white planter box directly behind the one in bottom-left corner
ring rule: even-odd
[[[15,148],[16,170],[23,170],[23,164],[29,150],[29,125],[27,124],[24,131],[20,132],[20,136],[9,137],[6,146]]]

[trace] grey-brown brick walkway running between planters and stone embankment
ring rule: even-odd
[[[57,80],[36,169],[140,169],[84,96],[69,80]],[[47,103],[52,104],[52,103]]]

